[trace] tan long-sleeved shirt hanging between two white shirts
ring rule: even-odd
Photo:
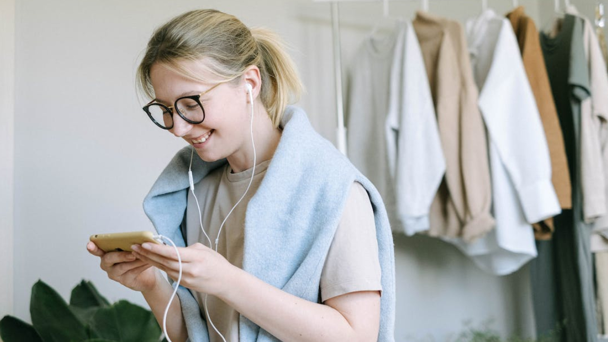
[[[446,158],[446,175],[430,209],[431,236],[466,242],[494,228],[486,132],[477,107],[465,33],[446,18],[418,12],[420,42]]]

